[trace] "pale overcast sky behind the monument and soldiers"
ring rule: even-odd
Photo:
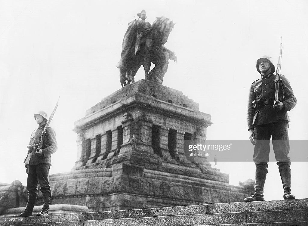
[[[256,60],[272,56],[280,37],[281,73],[298,104],[289,112],[290,139],[307,139],[308,2],[302,1],[46,1],[0,0],[0,182],[26,184],[23,161],[33,114],[60,102],[51,127],[59,149],[51,174],[70,171],[77,158],[74,122],[103,97],[120,89],[122,40],[128,23],[146,10],[147,21],[176,23],[167,48],[164,85],[180,90],[212,116],[208,139],[248,139],[247,98],[260,77]],[[135,80],[144,78],[143,68]],[[295,151],[292,150],[291,152]],[[308,160],[307,160],[308,161]],[[230,183],[254,179],[254,163],[220,163]],[[307,198],[307,162],[292,162],[292,193]],[[282,199],[278,166],[270,162],[265,199]]]

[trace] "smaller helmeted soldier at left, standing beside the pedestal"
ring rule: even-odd
[[[28,174],[28,203],[24,212],[19,215],[15,215],[15,217],[32,216],[32,210],[38,195],[38,183],[43,194],[43,208],[37,216],[48,215],[51,200],[51,189],[49,186],[48,176],[51,166],[50,155],[55,153],[58,149],[55,131],[51,127],[48,127],[42,149],[37,149],[41,140],[42,131],[47,123],[47,114],[44,111],[39,111],[34,114],[34,119],[36,120],[36,123],[39,124],[39,128],[35,129],[31,134],[28,145],[28,154],[24,161],[26,172]]]

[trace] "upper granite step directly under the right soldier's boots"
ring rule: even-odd
[[[122,210],[110,212],[74,213],[50,215],[48,222],[65,222],[78,220],[104,220],[117,218],[138,218],[155,216],[177,216],[226,212],[258,212],[288,209],[308,209],[308,199],[274,200],[261,202],[216,203],[193,206],[166,207],[140,210]],[[43,223],[44,221],[42,221]],[[1,225],[1,223],[0,223]]]

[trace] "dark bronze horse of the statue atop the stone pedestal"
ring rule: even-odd
[[[134,82],[134,76],[141,65],[144,67],[145,79],[163,82],[168,60],[177,61],[175,53],[164,47],[174,25],[175,23],[166,17],[156,18],[152,26],[137,19],[128,24],[121,60],[117,65],[120,68],[122,87]],[[155,64],[155,67],[150,71],[151,63]]]

